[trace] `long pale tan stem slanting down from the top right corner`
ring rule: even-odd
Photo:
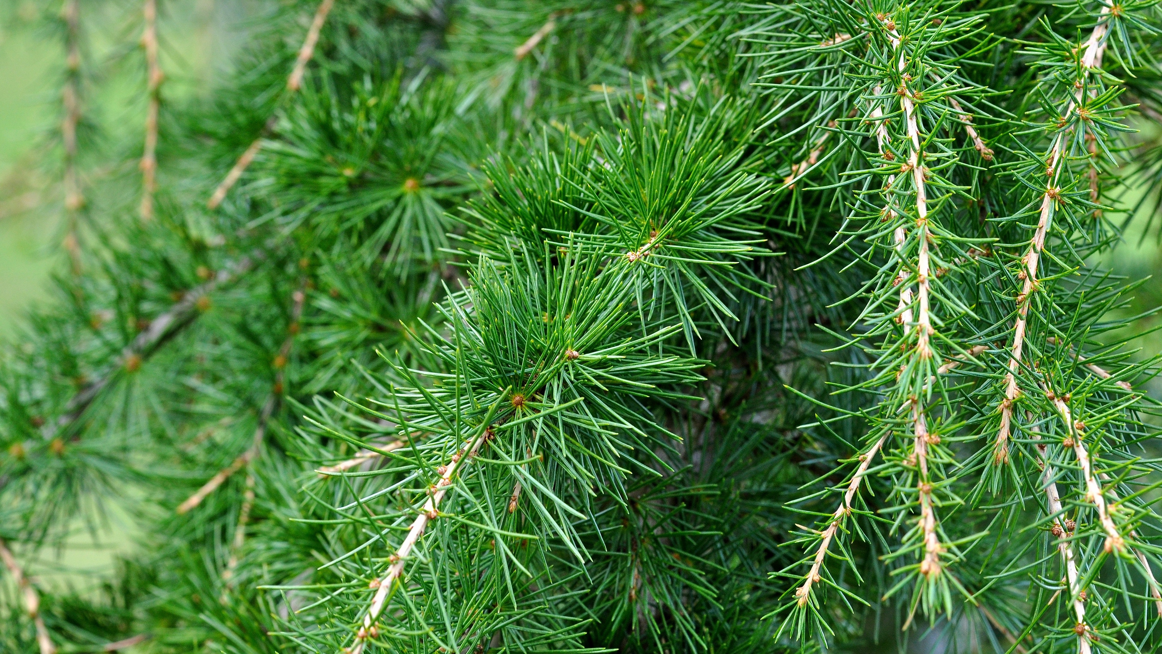
[[[1102,17],[1105,17],[1109,13],[1110,6],[1103,5],[1100,14]],[[1070,98],[1066,108],[1066,119],[1069,118],[1069,114],[1073,113],[1075,107],[1084,104],[1082,88],[1090,72],[1102,63],[1102,54],[1106,45],[1104,37],[1107,29],[1109,26],[1106,22],[1104,20],[1099,20],[1098,24],[1093,28],[1093,31],[1090,33],[1089,40],[1086,40],[1082,45],[1083,55],[1081,61],[1081,78],[1077,80],[1076,92]],[[995,464],[1009,462],[1009,434],[1012,429],[1013,403],[1017,401],[1017,398],[1020,394],[1020,389],[1017,385],[1017,372],[1020,370],[1021,354],[1025,346],[1025,330],[1028,325],[1028,306],[1032,300],[1032,294],[1040,287],[1037,277],[1039,272],[1038,264],[1041,257],[1041,251],[1045,249],[1045,239],[1049,229],[1049,223],[1053,220],[1054,205],[1061,196],[1061,185],[1056,183],[1056,179],[1063,168],[1066,159],[1064,149],[1070,133],[1073,133],[1071,127],[1069,129],[1060,130],[1053,138],[1053,145],[1049,148],[1049,161],[1046,164],[1046,189],[1041,196],[1041,211],[1038,216],[1037,229],[1033,233],[1033,240],[1030,241],[1025,256],[1021,257],[1021,263],[1025,264],[1025,270],[1020,271],[1017,276],[1019,279],[1024,279],[1024,284],[1021,286],[1020,294],[1017,296],[1017,322],[1013,325],[1013,341],[1009,356],[1009,371],[1005,374],[1005,398],[1000,403],[1000,427],[997,431],[997,441],[994,447],[992,461]]]

